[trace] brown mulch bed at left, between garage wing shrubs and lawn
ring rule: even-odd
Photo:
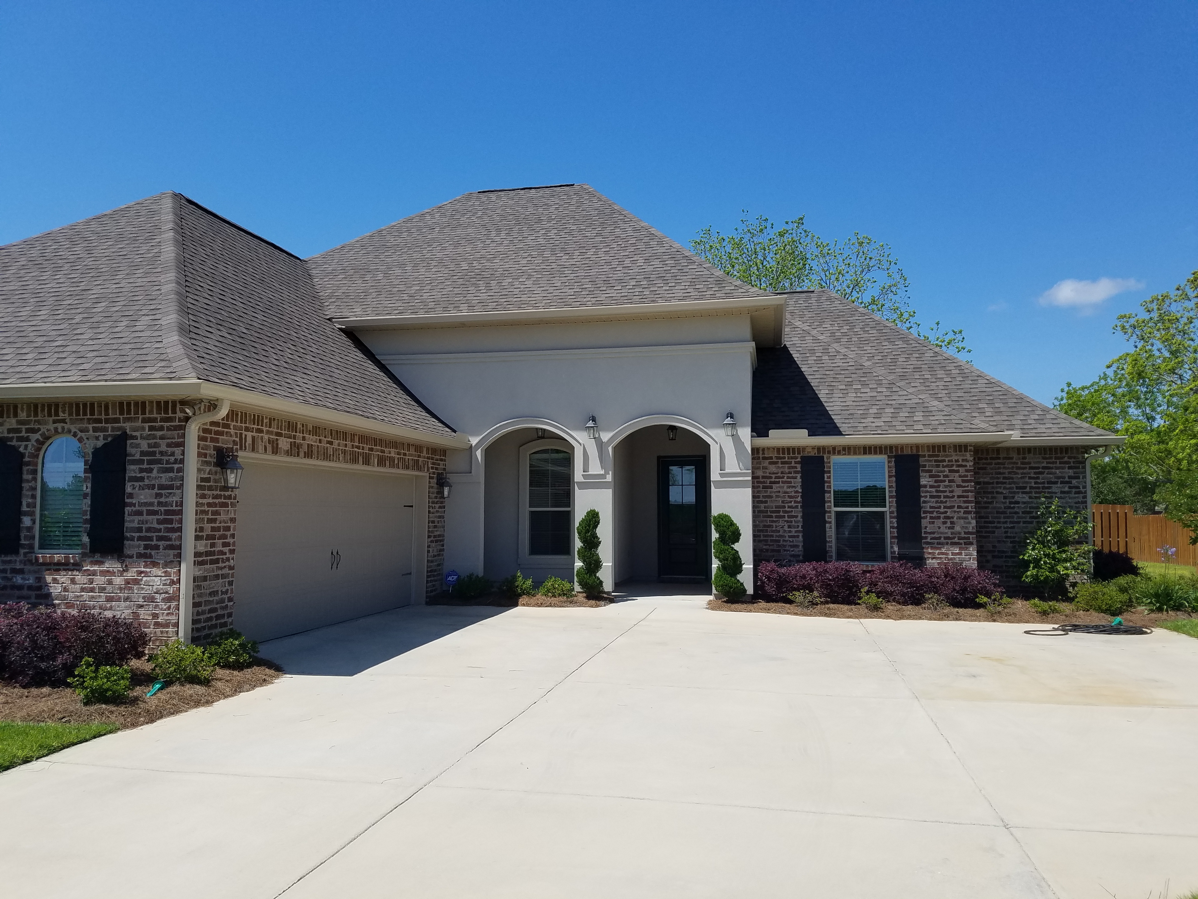
[[[238,693],[265,687],[283,674],[273,662],[258,659],[241,671],[218,668],[206,687],[198,683],[171,683],[146,699],[153,684],[153,674],[145,662],[131,662],[133,689],[121,705],[85,706],[69,687],[14,687],[0,683],[0,720],[50,722],[63,724],[111,723],[137,728],[161,718],[169,718],[192,708],[210,706]]]

